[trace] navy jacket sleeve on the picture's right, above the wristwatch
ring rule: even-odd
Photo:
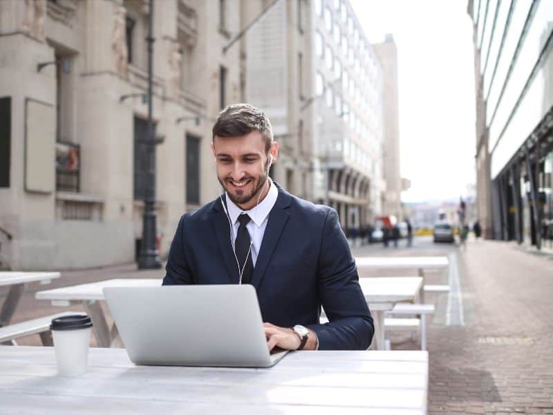
[[[374,334],[373,317],[359,286],[357,267],[331,209],[324,225],[318,265],[319,298],[328,324],[312,324],[319,350],[366,350]]]

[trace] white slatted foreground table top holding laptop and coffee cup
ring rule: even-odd
[[[91,348],[88,373],[56,376],[51,347],[0,347],[6,413],[426,414],[426,351],[299,351],[270,369],[135,366]]]

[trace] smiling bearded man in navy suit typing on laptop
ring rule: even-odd
[[[269,178],[279,145],[263,111],[224,109],[212,151],[225,194],[182,216],[163,284],[252,284],[270,350],[367,349],[373,319],[337,213]]]

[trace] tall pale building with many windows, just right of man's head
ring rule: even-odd
[[[247,37],[249,102],[281,142],[274,178],[343,228],[382,213],[384,78],[347,0],[277,3]]]

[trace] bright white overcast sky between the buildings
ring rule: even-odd
[[[368,40],[392,33],[400,91],[402,201],[458,199],[476,182],[474,55],[465,0],[350,0]]]

